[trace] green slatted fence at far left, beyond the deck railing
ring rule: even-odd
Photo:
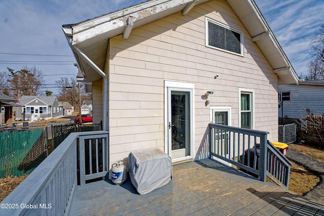
[[[30,174],[47,156],[47,127],[0,131],[0,178]]]

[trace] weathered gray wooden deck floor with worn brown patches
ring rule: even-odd
[[[173,166],[164,187],[139,195],[130,179],[78,187],[69,215],[324,215],[324,206],[211,159]]]

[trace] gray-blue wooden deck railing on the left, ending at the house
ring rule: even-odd
[[[70,201],[77,185],[77,142],[91,143],[87,139],[92,141],[104,140],[101,143],[102,149],[107,152],[107,131],[70,134],[1,202],[0,215],[68,214]],[[85,144],[80,143],[79,145]],[[96,153],[98,153],[98,150],[96,150]],[[80,164],[85,164],[85,158],[80,158]],[[105,160],[108,161],[108,157],[105,157]],[[99,176],[104,176],[103,172]],[[85,179],[85,177],[80,177],[80,179],[82,178]]]

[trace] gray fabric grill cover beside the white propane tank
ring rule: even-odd
[[[147,194],[171,181],[171,157],[160,149],[134,151],[128,158],[130,178],[139,194]]]

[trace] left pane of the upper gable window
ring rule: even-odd
[[[208,22],[208,45],[220,49],[225,47],[225,28]]]

